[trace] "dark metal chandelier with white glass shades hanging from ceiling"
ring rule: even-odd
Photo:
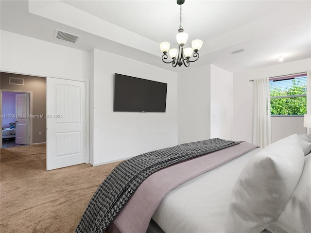
[[[184,29],[181,26],[181,5],[185,2],[185,0],[177,0],[177,4],[180,5],[180,26],[178,29],[178,33],[176,35],[176,40],[178,43],[178,49],[171,49],[170,50],[170,43],[167,41],[164,41],[160,43],[160,49],[163,52],[162,55],[162,61],[170,64],[172,63],[173,67],[176,67],[177,65],[181,67],[182,65],[185,65],[185,67],[189,67],[190,62],[195,62],[199,59],[199,53],[198,51],[201,49],[203,41],[202,40],[192,40],[191,47],[184,48],[184,45],[186,44],[188,40],[188,33],[184,33]],[[169,52],[172,61],[166,61],[168,59],[167,52]],[[194,60],[190,60],[190,57],[194,57]]]

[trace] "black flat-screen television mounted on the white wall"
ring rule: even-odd
[[[167,83],[115,74],[114,112],[165,112]]]

